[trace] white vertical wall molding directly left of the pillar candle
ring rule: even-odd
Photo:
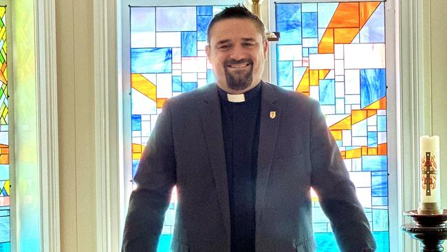
[[[418,146],[424,134],[424,39],[423,0],[400,0],[400,90],[397,90],[397,167],[400,167],[400,211],[416,209],[419,201]],[[400,216],[400,223],[410,222]],[[403,251],[418,251],[409,235],[400,240]]]

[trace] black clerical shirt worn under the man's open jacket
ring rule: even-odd
[[[255,190],[259,143],[261,85],[232,103],[219,89],[223,144],[230,200],[231,251],[254,251]]]

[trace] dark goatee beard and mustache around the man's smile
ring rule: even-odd
[[[241,64],[250,63],[249,70],[228,70],[228,67],[224,67],[225,78],[227,86],[231,90],[245,90],[252,85],[253,81],[253,61],[251,59],[241,59],[239,61],[228,60],[224,65],[228,64]]]

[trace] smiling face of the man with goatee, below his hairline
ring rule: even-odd
[[[242,94],[261,81],[268,42],[250,19],[224,19],[210,30],[206,55],[217,85],[230,94]]]

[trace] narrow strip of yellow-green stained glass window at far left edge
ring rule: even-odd
[[[10,251],[10,176],[6,6],[0,6],[0,252]]]

